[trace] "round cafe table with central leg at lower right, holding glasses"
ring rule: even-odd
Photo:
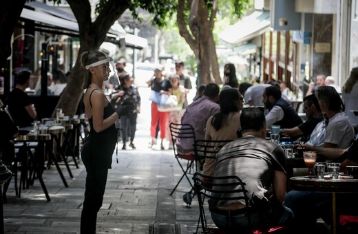
[[[290,186],[297,191],[332,193],[332,233],[337,233],[336,193],[358,193],[358,179],[317,179],[297,176],[290,178]]]

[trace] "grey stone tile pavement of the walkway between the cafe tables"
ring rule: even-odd
[[[198,204],[193,200],[187,207],[182,200],[182,195],[189,191],[189,183],[182,180],[178,191],[169,195],[182,175],[173,151],[148,149],[147,141],[137,140],[136,150],[118,151],[119,164],[114,153],[103,207],[98,213],[98,233],[195,231]],[[44,171],[50,202],[46,202],[38,180],[21,191],[21,198],[15,196],[12,181],[8,203],[3,204],[6,233],[78,233],[85,184],[85,168],[79,162],[79,169],[71,167],[74,179],[62,167],[67,188],[54,166]]]

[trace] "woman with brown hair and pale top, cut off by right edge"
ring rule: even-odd
[[[358,109],[358,67],[354,67],[350,71],[350,76],[342,88],[342,99],[345,107],[344,113],[352,125],[358,125],[358,116],[351,111]]]

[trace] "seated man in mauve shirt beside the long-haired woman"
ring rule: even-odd
[[[196,139],[205,138],[205,127],[207,127],[207,120],[213,114],[220,111],[220,106],[217,103],[219,100],[219,86],[215,83],[208,84],[202,98],[191,103],[182,116],[181,123],[193,126]],[[192,153],[194,140],[192,138],[179,138],[176,140],[176,146],[180,153]]]

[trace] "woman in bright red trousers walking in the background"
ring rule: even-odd
[[[151,87],[153,92],[158,92],[159,94],[171,94],[171,84],[170,82],[162,76],[162,70],[156,68],[154,70],[154,78],[151,78],[147,81],[147,84]],[[154,101],[151,102],[151,127],[150,127],[150,136],[151,136],[151,145],[153,147],[156,144],[156,126],[159,120],[159,129],[160,129],[160,149],[164,149],[163,140],[165,138],[165,125],[167,124],[168,111],[160,112],[158,111],[158,104]]]

